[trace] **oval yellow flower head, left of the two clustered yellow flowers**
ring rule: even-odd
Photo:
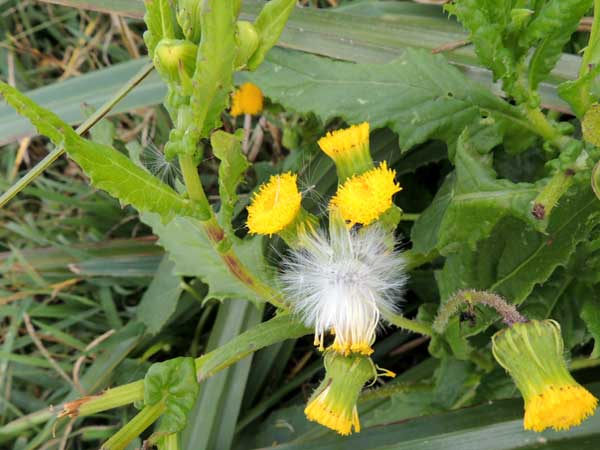
[[[296,174],[291,172],[273,175],[254,194],[248,206],[247,225],[250,233],[271,236],[296,219],[302,201],[296,179]]]

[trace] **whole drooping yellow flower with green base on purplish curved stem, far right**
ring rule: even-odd
[[[492,351],[523,395],[526,430],[567,430],[594,413],[598,399],[567,370],[560,325],[554,320],[505,328],[492,337]]]

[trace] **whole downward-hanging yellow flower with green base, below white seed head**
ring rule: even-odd
[[[360,431],[356,401],[364,384],[377,376],[371,358],[325,354],[325,379],[311,396],[304,414],[339,434]]]

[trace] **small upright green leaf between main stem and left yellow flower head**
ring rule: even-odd
[[[250,164],[242,153],[240,138],[224,131],[216,131],[210,137],[214,155],[219,158],[219,196],[221,209],[219,223],[233,235],[231,219],[237,202],[237,187]]]

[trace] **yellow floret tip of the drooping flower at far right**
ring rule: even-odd
[[[524,428],[568,430],[594,414],[598,399],[580,385],[548,386],[525,402]]]

